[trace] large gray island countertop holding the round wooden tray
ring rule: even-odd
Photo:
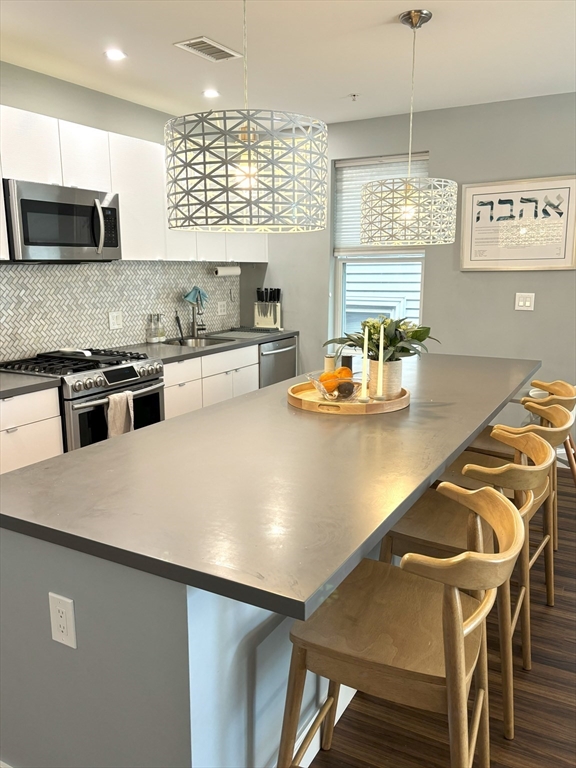
[[[7,473],[0,524],[306,618],[539,367],[410,359],[410,407],[371,416],[275,384]]]

